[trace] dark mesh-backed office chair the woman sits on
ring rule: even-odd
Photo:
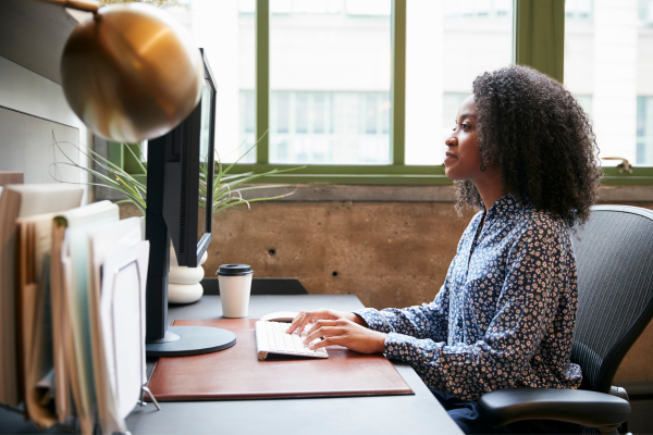
[[[488,393],[479,413],[495,426],[558,420],[580,424],[584,433],[618,434],[630,417],[628,394],[612,381],[653,318],[653,211],[594,206],[571,239],[578,269],[571,362],[582,369],[582,385]]]

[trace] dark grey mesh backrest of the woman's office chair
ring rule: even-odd
[[[608,393],[653,316],[653,212],[595,206],[571,239],[579,298],[571,361],[582,368],[582,388]]]

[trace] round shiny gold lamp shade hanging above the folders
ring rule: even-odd
[[[110,140],[137,142],[177,126],[199,101],[199,50],[167,13],[143,3],[100,8],[61,58],[63,91],[79,119]]]

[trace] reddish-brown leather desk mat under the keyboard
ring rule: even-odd
[[[254,319],[180,320],[175,326],[213,326],[236,334],[215,353],[161,358],[149,388],[157,400],[264,399],[414,394],[381,355],[328,347],[329,358],[256,355]]]

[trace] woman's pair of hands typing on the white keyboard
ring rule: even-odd
[[[311,349],[337,345],[361,353],[382,353],[385,350],[385,334],[369,330],[362,318],[346,311],[325,308],[301,311],[293,320],[286,333],[301,334],[309,323],[315,324],[304,343],[308,344],[317,338],[323,338],[321,341],[310,345]]]

